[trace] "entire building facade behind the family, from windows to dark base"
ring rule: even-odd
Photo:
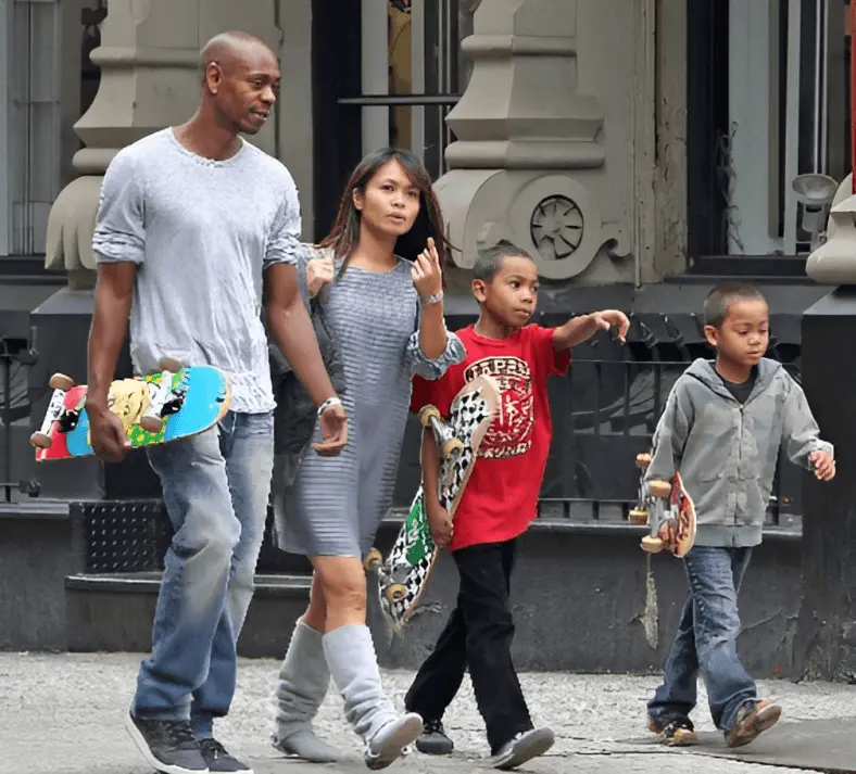
[[[633,459],[675,379],[707,352],[697,313],[721,276],[767,272],[771,355],[798,368],[802,312],[826,291],[805,277],[813,234],[793,181],[818,173],[834,186],[851,169],[848,11],[840,0],[0,0],[0,519],[17,520],[0,542],[0,596],[13,602],[0,648],[148,647],[171,536],[144,457],[34,471],[27,439],[51,373],[86,379],[108,164],[186,120],[199,49],[242,29],[280,56],[276,112],[253,142],[292,172],[305,240],[329,228],[363,153],[392,143],[425,160],[458,249],[450,327],[473,319],[468,268],[500,239],[536,255],[544,325],[593,308],[633,313],[626,346],[599,337],[552,385],[554,444],[525,547],[533,572],[520,574],[524,607],[551,610],[554,623],[518,648],[528,669],[659,664],[668,644],[657,621],[676,625],[681,581],[664,562],[658,581],[639,582]],[[129,368],[125,353],[119,371]],[[396,508],[418,483],[417,433],[408,428]],[[798,597],[801,478],[782,470],[778,543],[758,587],[786,586],[793,604],[744,638],[765,674],[790,663]],[[15,491],[18,479],[41,496]],[[396,530],[386,523],[378,545]],[[299,614],[307,571],[266,542],[259,573],[278,579],[260,580],[254,609],[267,613],[251,613],[246,652],[281,654],[281,600]],[[38,579],[22,583],[24,573]],[[443,599],[453,579],[441,569]],[[620,610],[600,607],[612,598]],[[747,607],[769,621],[770,604],[761,595]],[[387,663],[415,663],[440,620],[429,613],[383,651]],[[616,632],[616,617],[639,625]],[[576,650],[555,636],[567,620],[589,633]]]

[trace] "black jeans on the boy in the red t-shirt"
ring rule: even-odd
[[[516,548],[515,538],[452,554],[461,575],[457,607],[404,698],[408,712],[418,712],[426,722],[439,721],[469,667],[493,754],[516,734],[532,728],[512,662],[508,596]]]

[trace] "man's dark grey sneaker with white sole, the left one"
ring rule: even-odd
[[[130,712],[125,728],[142,757],[162,774],[209,774],[190,723],[186,720],[146,720]]]

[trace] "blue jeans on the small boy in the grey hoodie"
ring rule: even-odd
[[[649,702],[649,715],[665,726],[689,718],[701,670],[710,716],[728,732],[738,710],[757,700],[755,683],[738,656],[738,592],[752,548],[695,546],[685,557],[690,598],[666,661],[663,685]]]

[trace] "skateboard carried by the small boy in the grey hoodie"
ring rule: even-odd
[[[641,471],[639,502],[630,511],[629,521],[651,528],[642,538],[642,550],[649,554],[667,550],[682,559],[695,544],[695,505],[680,472],[676,472],[671,481],[654,480],[646,484],[645,472],[650,465],[650,454],[637,455],[637,467]]]

